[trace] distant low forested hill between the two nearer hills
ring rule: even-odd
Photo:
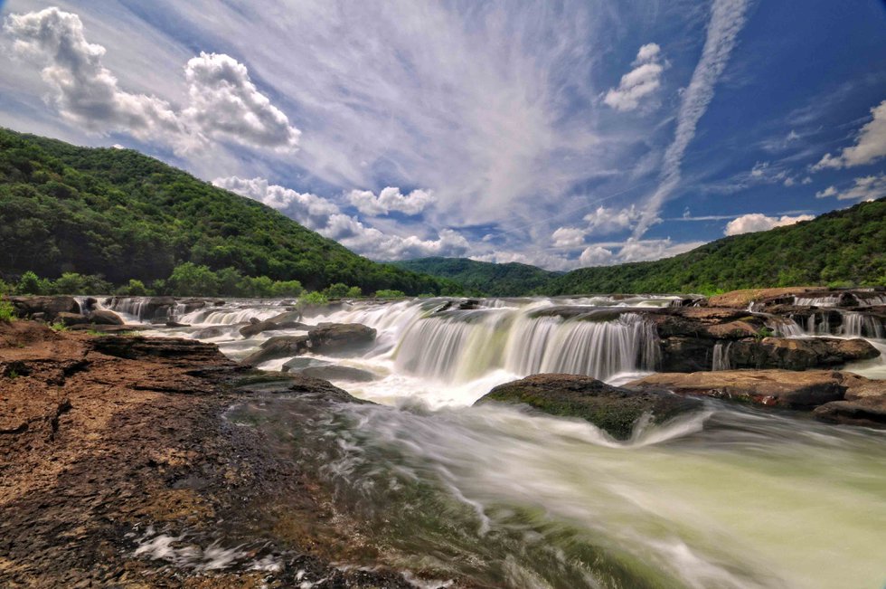
[[[495,264],[467,258],[419,258],[391,263],[406,270],[455,280],[469,291],[493,297],[544,294],[551,280],[558,276],[556,272],[528,264]]]

